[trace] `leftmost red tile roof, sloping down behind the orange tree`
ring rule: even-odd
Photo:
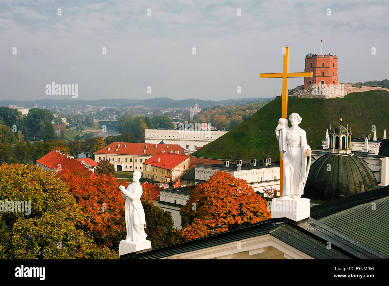
[[[61,153],[55,151],[55,149],[38,159],[37,163],[53,170],[57,170],[59,168],[58,164],[60,164],[61,169],[67,168],[72,171],[86,172],[89,176],[96,177],[96,175],[90,171],[88,167],[85,167],[84,164],[81,164],[80,161],[67,157],[66,155],[61,155]]]

